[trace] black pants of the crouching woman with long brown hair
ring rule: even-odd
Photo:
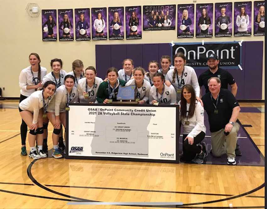
[[[188,139],[184,141],[188,134],[183,134],[183,161],[190,162],[196,154],[201,152],[201,147],[197,146],[205,137],[205,133],[201,131],[196,137],[194,137],[194,142],[192,145],[188,143]]]

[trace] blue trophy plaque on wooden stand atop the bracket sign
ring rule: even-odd
[[[119,86],[117,102],[114,104],[138,104],[139,98],[135,98],[135,86]]]

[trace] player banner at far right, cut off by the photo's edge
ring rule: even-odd
[[[265,2],[254,2],[254,35],[265,35]]]

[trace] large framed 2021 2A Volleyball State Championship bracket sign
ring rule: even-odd
[[[66,158],[179,163],[179,106],[70,104]]]

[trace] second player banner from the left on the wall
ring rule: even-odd
[[[58,34],[60,41],[73,41],[73,9],[58,10]]]

